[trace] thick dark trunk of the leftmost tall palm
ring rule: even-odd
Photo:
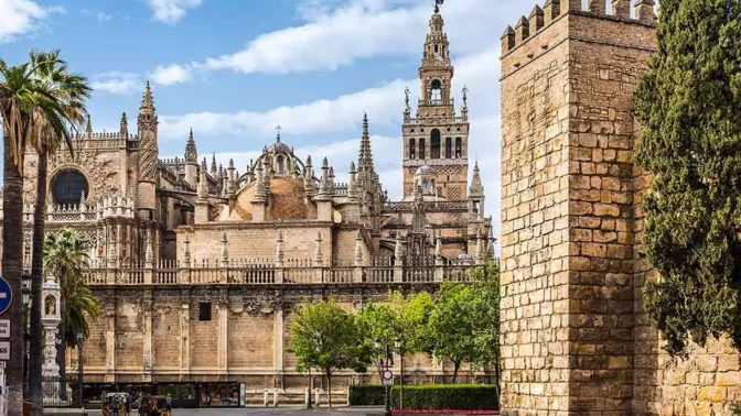
[[[3,140],[3,198],[2,198],[2,276],[10,284],[13,296],[21,299],[23,269],[23,177],[13,161],[9,134]],[[23,413],[23,303],[13,302],[10,319],[10,350],[14,358],[6,363],[8,385],[8,415]]]

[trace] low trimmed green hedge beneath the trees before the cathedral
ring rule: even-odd
[[[383,385],[350,387],[351,406],[383,406]],[[391,404],[399,408],[399,386],[391,387]],[[498,409],[496,386],[485,384],[414,384],[404,386],[405,409]]]

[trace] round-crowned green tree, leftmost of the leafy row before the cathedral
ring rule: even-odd
[[[326,375],[332,407],[332,374],[353,369],[365,372],[370,349],[355,316],[346,314],[334,299],[304,304],[291,327],[289,351],[296,354],[297,370],[320,370]]]

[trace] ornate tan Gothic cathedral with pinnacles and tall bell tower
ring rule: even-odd
[[[88,119],[74,156],[49,161],[46,225],[89,242],[86,280],[105,309],[85,348],[90,388],[154,388],[195,406],[245,404],[268,387],[302,395],[307,376],[288,351],[302,303],[334,297],[359,310],[389,289],[465,281],[493,254],[494,238],[475,163],[469,180],[468,91],[457,106],[453,73],[436,10],[416,106],[405,91],[401,200],[379,182],[367,116],[357,161],[296,154],[278,132],[243,172],[200,155],[193,131],[182,157],[160,158],[149,84],[136,128],[124,113],[118,132],[95,133]],[[29,154],[24,169],[26,267],[36,162]],[[335,182],[335,169],[347,183]],[[405,357],[405,382],[452,371],[421,354]]]

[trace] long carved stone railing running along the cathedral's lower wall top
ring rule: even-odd
[[[375,262],[373,265],[326,266],[312,260],[161,261],[142,267],[106,266],[95,263],[84,273],[89,286],[174,285],[347,285],[430,284],[470,282],[470,271],[481,261],[448,262],[438,259],[423,265]]]

